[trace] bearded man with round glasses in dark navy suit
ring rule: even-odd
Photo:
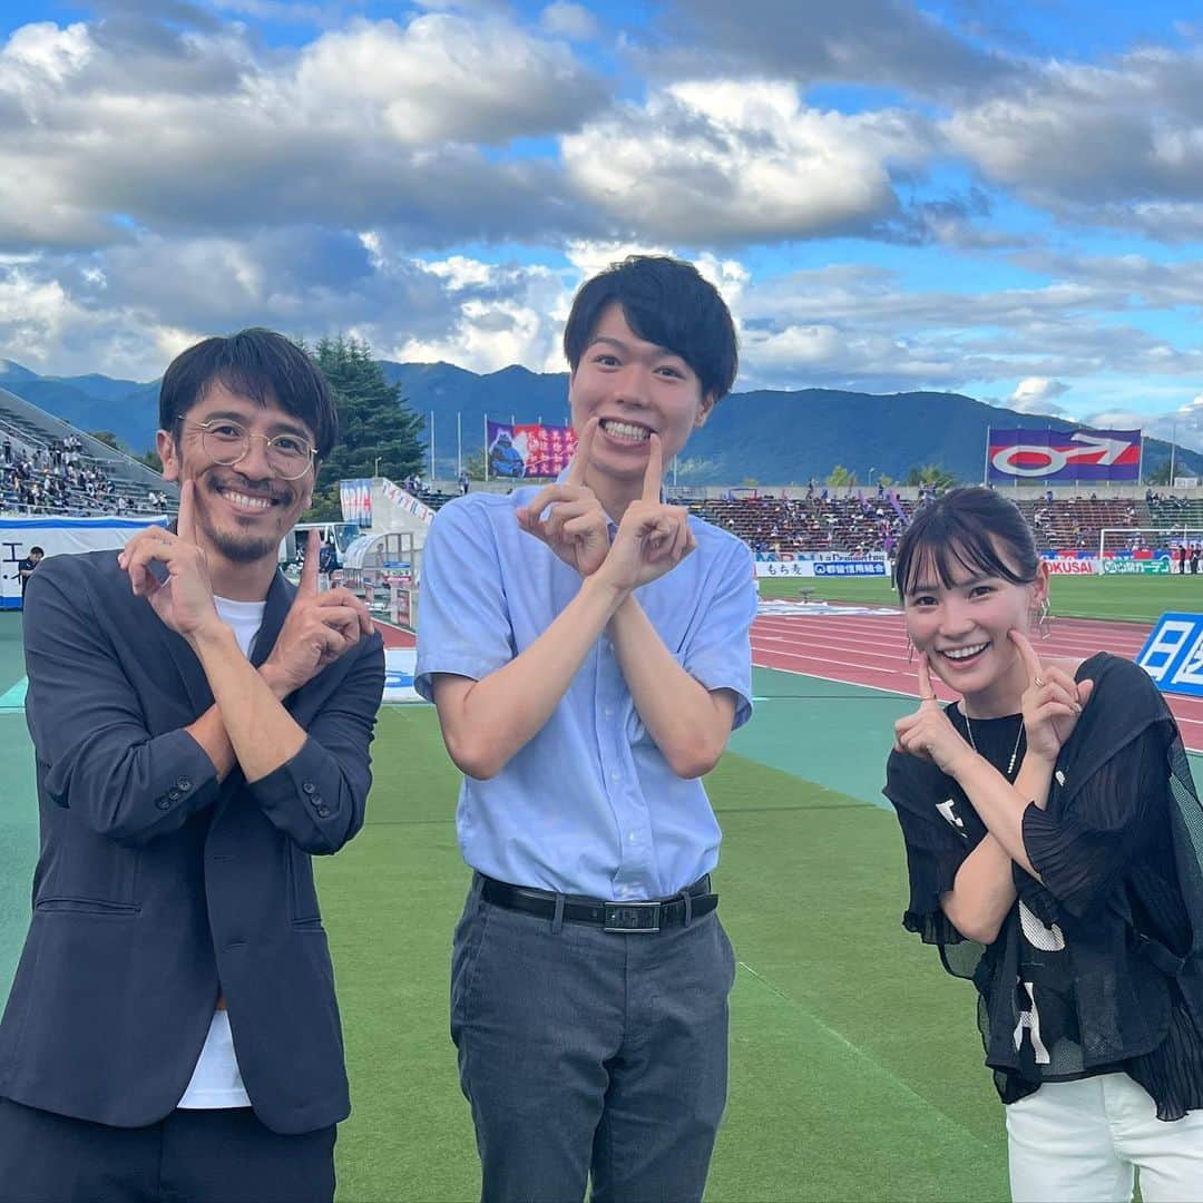
[[[164,375],[174,532],[55,556],[25,602],[41,857],[0,1023],[0,1193],[333,1197],[349,1110],[310,855],[363,823],[384,685],[280,540],[337,438],[313,361],[248,330]]]

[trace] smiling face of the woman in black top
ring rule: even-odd
[[[1017,571],[1006,547],[995,552]],[[966,562],[958,562],[962,558]],[[920,555],[903,593],[911,641],[928,653],[932,671],[973,704],[979,715],[1014,713],[1027,687],[1027,670],[1008,632],[1027,635],[1048,598],[1048,568],[1029,583],[990,575],[972,557],[953,557],[942,581],[931,556]]]

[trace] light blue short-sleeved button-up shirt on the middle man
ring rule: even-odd
[[[422,550],[416,688],[475,681],[508,664],[576,595],[580,575],[518,526],[537,488],[469,493],[439,510]],[[752,553],[689,518],[698,549],[635,592],[685,670],[752,713]],[[614,526],[611,523],[611,537]],[[490,781],[466,777],[456,811],[464,860],[514,885],[635,900],[665,897],[710,872],[722,831],[700,781],[678,777],[640,722],[603,634],[547,723]]]

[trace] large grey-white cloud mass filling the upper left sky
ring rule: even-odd
[[[605,102],[559,42],[451,13],[271,54],[242,26],[24,26],[0,49],[0,248],[140,226],[390,225],[427,245],[589,230],[550,162],[504,152]]]

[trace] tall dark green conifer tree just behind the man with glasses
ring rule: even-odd
[[[384,369],[372,358],[367,343],[357,338],[324,338],[313,357],[333,390],[338,404],[338,445],[318,474],[308,521],[338,518],[338,482],[360,476],[401,480],[421,472],[422,419],[401,395],[399,384],[389,384]]]

